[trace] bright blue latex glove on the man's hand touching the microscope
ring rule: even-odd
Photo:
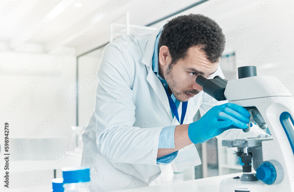
[[[191,123],[188,135],[193,143],[204,143],[228,129],[246,129],[250,113],[234,103],[214,106],[198,121]]]

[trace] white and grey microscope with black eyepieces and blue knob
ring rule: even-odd
[[[263,137],[222,140],[223,146],[236,147],[244,164],[243,174],[223,179],[219,192],[294,191],[294,99],[276,77],[257,76],[255,66],[239,67],[238,78],[196,78],[208,95],[246,108],[250,122],[270,132]],[[243,131],[249,130],[250,123]]]

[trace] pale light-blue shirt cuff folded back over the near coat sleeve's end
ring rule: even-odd
[[[158,149],[175,148],[175,129],[177,125],[162,128],[159,134]]]

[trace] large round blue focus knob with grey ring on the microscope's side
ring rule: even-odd
[[[283,167],[276,160],[265,161],[256,169],[256,177],[268,185],[278,184],[284,177]]]

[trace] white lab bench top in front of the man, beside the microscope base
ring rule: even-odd
[[[170,183],[164,185],[155,185],[149,187],[141,187],[141,188],[134,188],[130,189],[132,192],[218,192],[220,181],[229,178],[229,177],[236,177],[241,176],[242,173],[234,173],[228,175],[221,175],[215,177],[208,177],[203,179],[196,179],[191,181],[183,181],[177,183]],[[126,192],[128,190],[120,190],[115,192]]]

